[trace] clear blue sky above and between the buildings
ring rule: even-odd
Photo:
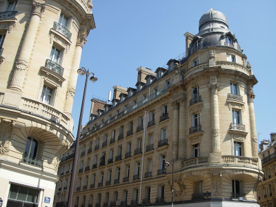
[[[259,81],[255,117],[259,141],[276,132],[276,1],[93,0],[96,28],[83,46],[80,67],[95,72],[88,82],[83,125],[89,120],[92,97],[108,99],[119,85],[135,88],[137,68],[156,70],[185,52],[185,32],[198,33],[201,15],[214,8],[226,15],[230,31],[250,61]],[[79,77],[72,116],[77,137],[85,77]]]

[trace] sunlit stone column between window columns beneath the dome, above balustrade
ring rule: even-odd
[[[219,135],[219,99],[217,97],[217,76],[210,75],[211,119],[212,119],[212,152],[221,152]]]

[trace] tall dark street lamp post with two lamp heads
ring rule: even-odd
[[[67,202],[68,207],[72,207],[72,199],[73,199],[73,192],[74,192],[74,186],[75,186],[75,177],[76,177],[76,172],[77,172],[77,160],[79,157],[79,137],[81,137],[81,121],[82,121],[82,116],[83,116],[83,106],[84,106],[84,102],[86,100],[87,80],[88,80],[88,77],[92,74],[92,77],[90,77],[90,81],[92,81],[92,83],[95,83],[97,81],[97,77],[95,77],[95,74],[93,72],[89,72],[89,69],[86,70],[86,68],[81,67],[77,70],[77,73],[79,75],[86,75],[86,83],[85,83],[84,90],[83,90],[83,97],[82,97],[82,102],[81,102],[81,113],[79,115],[79,126],[78,126],[78,130],[77,130],[75,153],[74,153],[73,166],[72,166],[72,172],[71,172],[70,188],[69,188],[69,193],[68,193],[68,202]]]

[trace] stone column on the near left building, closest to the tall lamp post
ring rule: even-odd
[[[72,63],[70,79],[68,83],[67,93],[66,93],[66,103],[64,105],[63,111],[67,115],[71,115],[73,100],[75,97],[75,88],[77,84],[77,70],[79,69],[79,63],[81,62],[81,52],[83,44],[86,43],[86,30],[80,30],[77,38],[77,44],[75,48],[75,56]]]

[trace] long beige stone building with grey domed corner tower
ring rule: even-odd
[[[90,116],[75,205],[170,206],[173,175],[175,206],[259,206],[250,63],[221,12],[184,36],[185,55],[139,67],[136,88],[115,86],[112,104]]]

